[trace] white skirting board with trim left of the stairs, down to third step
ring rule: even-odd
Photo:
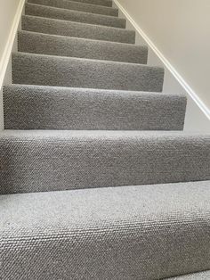
[[[21,26],[21,15],[25,12],[25,1],[20,0],[14,16],[11,31],[4,48],[3,58],[0,61],[0,130],[4,129],[3,86],[12,83],[12,52],[17,51],[17,31]]]

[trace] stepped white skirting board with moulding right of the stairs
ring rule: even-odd
[[[165,68],[165,81],[163,91],[166,94],[184,93],[188,98],[188,105],[185,119],[185,131],[205,131],[210,132],[210,110],[206,107],[198,95],[190,88],[182,76],[174,69],[173,65],[166,60],[164,54],[158,50],[157,46],[142,31],[141,27],[133,21],[133,18],[124,7],[113,0],[113,6],[119,9],[119,17],[127,21],[126,29],[136,31],[136,44],[148,45],[149,47],[149,65],[158,65]]]

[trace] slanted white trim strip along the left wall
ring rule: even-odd
[[[2,88],[4,84],[4,77],[6,74],[8,63],[10,62],[10,57],[12,54],[12,47],[15,41],[15,37],[19,28],[21,14],[24,8],[25,0],[20,0],[20,4],[18,5],[17,12],[14,16],[14,20],[12,22],[12,29],[10,31],[7,43],[4,48],[4,53],[2,60],[0,61],[0,88]]]

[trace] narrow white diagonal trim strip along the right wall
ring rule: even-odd
[[[113,0],[117,5],[119,10],[124,13],[125,18],[130,21],[133,25],[133,28],[140,34],[140,36],[145,40],[145,42],[149,45],[151,50],[158,56],[158,59],[165,65],[166,69],[170,71],[170,73],[174,76],[174,78],[178,81],[178,83],[183,87],[183,89],[190,95],[192,100],[198,105],[201,111],[206,115],[206,118],[210,120],[210,110],[206,106],[206,104],[198,97],[196,92],[190,87],[190,85],[182,78],[177,70],[175,70],[174,66],[168,62],[164,54],[162,54],[158,47],[151,41],[151,39],[146,35],[146,33],[140,28],[140,26],[133,20],[131,15],[126,12],[125,8],[118,3],[117,0]]]

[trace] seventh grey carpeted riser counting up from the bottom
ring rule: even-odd
[[[29,3],[26,4],[25,9],[26,15],[41,16],[45,18],[52,18],[64,21],[78,21],[91,24],[100,24],[125,29],[125,19],[119,19],[117,17],[106,16],[91,12],[70,11],[67,9],[60,9],[50,6]]]

